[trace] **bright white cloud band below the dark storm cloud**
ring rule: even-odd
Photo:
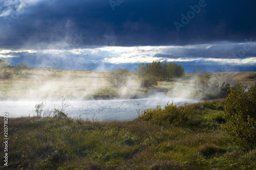
[[[152,61],[167,61],[167,62],[202,62],[204,64],[215,63],[219,65],[231,64],[231,65],[253,65],[256,64],[256,57],[251,56],[247,58],[218,58],[212,55],[211,57],[194,54],[194,52],[208,52],[204,51],[213,46],[218,53],[221,53],[220,48],[222,45],[228,46],[228,43],[224,44],[199,44],[199,45],[187,45],[187,46],[100,46],[95,48],[82,48],[73,50],[55,50],[51,48],[49,50],[0,50],[0,57],[16,57],[15,53],[36,53],[36,54],[49,54],[54,57],[74,57],[87,58],[91,62],[103,62],[112,64],[125,64],[125,63],[142,63]],[[232,45],[231,45],[232,46]],[[188,50],[188,49],[191,49]],[[186,51],[186,52],[184,52]],[[193,55],[190,56],[190,52]],[[230,52],[231,53],[231,52]],[[208,55],[207,53],[203,53]],[[229,51],[227,51],[229,54]],[[88,57],[89,56],[89,57]]]

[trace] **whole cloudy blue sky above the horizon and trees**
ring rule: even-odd
[[[185,72],[256,71],[255,0],[0,0],[0,59],[10,65]]]

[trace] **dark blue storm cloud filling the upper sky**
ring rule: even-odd
[[[255,39],[255,1],[205,0],[196,9],[202,1],[115,1],[121,3],[114,11],[105,0],[38,1],[14,18],[14,12],[0,17],[0,47],[183,45]],[[194,16],[192,7],[197,10]],[[183,16],[191,19],[188,22]],[[184,26],[180,32],[174,22]],[[80,34],[86,39],[76,40]]]

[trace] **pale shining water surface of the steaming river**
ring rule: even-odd
[[[155,93],[145,99],[120,99],[120,100],[97,100],[97,101],[67,101],[70,105],[66,108],[65,113],[75,117],[81,115],[82,118],[91,119],[96,114],[97,120],[131,120],[138,117],[138,110],[154,108],[157,105],[164,107],[167,102],[179,105],[184,103],[196,103],[196,100],[169,98],[163,92]],[[33,116],[35,104],[41,102],[21,102],[21,101],[4,101],[0,102],[2,114],[9,112],[10,117]],[[49,108],[59,107],[60,102],[46,102]]]

